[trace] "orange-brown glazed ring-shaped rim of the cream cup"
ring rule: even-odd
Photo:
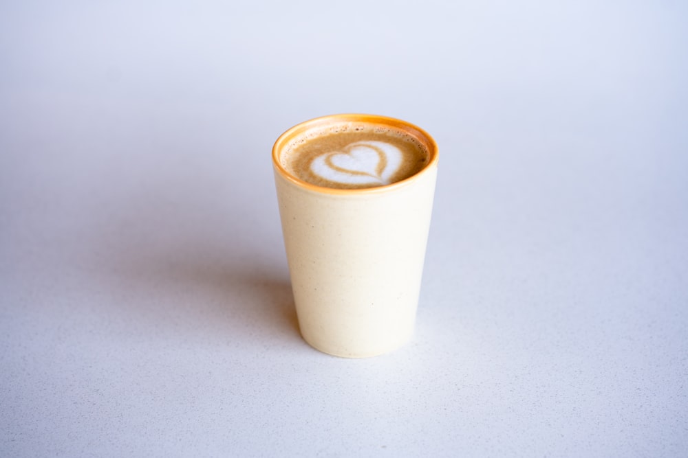
[[[401,130],[404,130],[406,133],[409,135],[413,135],[413,137],[416,137],[418,141],[421,141],[422,144],[427,146],[428,149],[428,154],[430,157],[430,160],[428,163],[418,172],[415,174],[400,180],[400,181],[395,181],[394,183],[391,183],[389,185],[382,185],[382,186],[376,186],[376,187],[360,187],[360,188],[355,188],[355,189],[346,189],[346,188],[337,188],[337,187],[325,187],[325,186],[319,186],[319,185],[314,185],[312,183],[308,183],[308,181],[303,181],[302,179],[299,179],[297,176],[294,176],[290,174],[286,170],[286,168],[283,167],[281,162],[279,161],[279,154],[281,149],[290,141],[294,136],[299,135],[301,132],[304,130],[314,128],[319,125],[325,125],[330,122],[334,121],[350,121],[350,122],[365,122],[365,123],[371,123],[371,124],[385,124],[387,126],[399,128]],[[406,185],[409,185],[413,181],[418,180],[418,178],[433,168],[438,162],[438,146],[425,130],[422,128],[411,124],[410,122],[403,121],[402,119],[396,119],[394,117],[387,117],[387,116],[381,116],[381,115],[366,115],[366,114],[359,114],[359,113],[343,113],[339,115],[327,115],[327,116],[320,116],[320,117],[315,117],[313,119],[309,119],[308,121],[301,122],[288,130],[286,130],[282,135],[280,135],[277,138],[277,141],[275,141],[275,144],[272,146],[272,165],[279,172],[283,178],[286,180],[290,181],[291,183],[294,183],[295,185],[302,187],[306,190],[310,190],[313,192],[318,192],[321,194],[336,194],[336,195],[347,195],[347,196],[352,196],[352,195],[366,195],[366,194],[378,194],[381,192],[389,192],[390,190],[397,189],[399,187],[404,187]]]

